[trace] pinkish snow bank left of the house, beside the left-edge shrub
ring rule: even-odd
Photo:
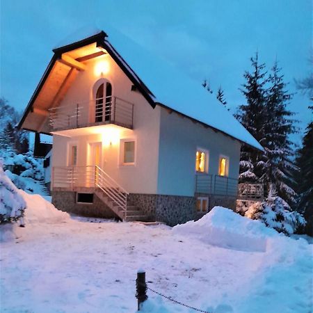
[[[19,190],[27,204],[25,211],[25,225],[35,223],[62,223],[70,218],[70,215],[56,209],[53,204],[42,198],[41,195],[30,195]]]

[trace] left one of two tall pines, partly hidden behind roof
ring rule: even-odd
[[[265,140],[266,124],[266,78],[265,64],[259,63],[258,54],[250,58],[252,72],[246,71],[243,77],[246,83],[241,93],[246,97],[246,104],[239,106],[236,118],[248,129],[261,145]],[[247,145],[241,148],[239,182],[255,182],[262,177],[262,154]],[[260,163],[261,162],[261,163]]]

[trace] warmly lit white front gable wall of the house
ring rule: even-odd
[[[99,61],[108,61],[110,71],[105,77],[95,74],[95,66]],[[88,165],[88,144],[102,142],[102,168],[113,179],[118,181],[131,193],[157,193],[157,172],[159,155],[159,122],[161,109],[152,109],[144,97],[131,91],[131,81],[109,56],[95,58],[86,63],[87,69],[79,72],[72,86],[67,91],[61,105],[73,106],[77,103],[93,103],[93,87],[99,79],[108,79],[113,86],[113,96],[134,103],[134,130],[124,127],[113,129],[104,127],[101,134],[86,134],[83,136],[54,135],[53,166],[67,166],[67,145],[70,142],[78,144],[78,166]],[[99,85],[99,81],[97,83]],[[90,110],[92,111],[92,110]],[[117,138],[118,137],[118,138]],[[120,166],[118,159],[121,138],[136,138],[136,164]],[[110,141],[112,144],[110,144]]]

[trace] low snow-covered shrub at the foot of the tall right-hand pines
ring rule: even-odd
[[[261,220],[266,226],[287,235],[303,230],[306,223],[305,218],[298,212],[291,211],[289,204],[280,197],[255,202],[243,215],[253,220]]]

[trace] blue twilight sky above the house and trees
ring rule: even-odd
[[[232,111],[250,56],[271,68],[278,58],[289,90],[312,70],[312,0],[0,0],[0,97],[24,110],[64,37],[110,24],[211,88],[222,86]],[[182,82],[183,83],[183,82]],[[300,127],[310,121],[309,99],[289,104]],[[300,136],[294,136],[295,141]]]

